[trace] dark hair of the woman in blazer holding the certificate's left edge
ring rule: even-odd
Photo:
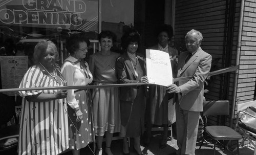
[[[140,34],[135,29],[130,29],[126,31],[121,37],[121,47],[125,50],[131,42],[137,42],[140,44]]]

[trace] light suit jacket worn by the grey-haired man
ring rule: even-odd
[[[201,47],[187,61],[188,52],[182,52],[178,61],[178,78],[193,76],[190,80],[179,81],[181,93],[178,94],[178,103],[184,110],[192,112],[203,111],[204,81],[210,72],[211,55]],[[177,100],[176,100],[177,103]]]

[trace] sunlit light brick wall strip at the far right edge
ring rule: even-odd
[[[254,98],[256,79],[256,1],[246,0],[239,60],[238,104]]]

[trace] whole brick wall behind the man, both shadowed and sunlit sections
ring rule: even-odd
[[[176,1],[176,18],[175,18],[175,46],[185,49],[184,36],[187,31],[196,29],[202,32],[203,42],[202,49],[212,55],[213,59],[220,58],[216,69],[228,67],[224,63],[230,59],[230,65],[236,65],[237,40],[239,29],[241,0],[237,0],[233,22],[233,34],[231,42],[230,55],[225,56],[226,48],[225,35],[228,20],[225,0],[216,1]],[[229,17],[227,17],[229,18]],[[242,27],[240,67],[238,76],[237,99],[239,103],[251,101],[254,98],[255,77],[256,77],[256,1],[246,0],[244,8],[244,19]],[[226,38],[225,38],[226,37]],[[224,64],[224,65],[223,65]],[[229,79],[224,80],[224,74],[212,77],[208,89],[210,94],[206,94],[207,99],[227,99],[232,101],[234,73],[230,73]],[[227,95],[222,96],[223,84],[228,82]],[[221,92],[221,93],[220,93]]]

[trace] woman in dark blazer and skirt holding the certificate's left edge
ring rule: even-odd
[[[124,53],[116,60],[116,71],[119,83],[148,83],[144,57],[136,53],[140,35],[137,31],[126,32],[121,38]],[[121,131],[123,137],[123,154],[129,154],[127,138],[134,138],[134,149],[142,154],[140,136],[144,131],[145,87],[120,87]]]

